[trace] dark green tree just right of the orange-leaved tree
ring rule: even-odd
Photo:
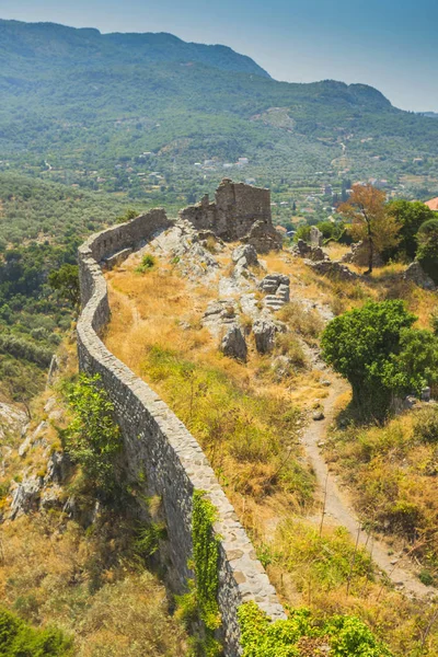
[[[419,200],[393,200],[387,205],[387,216],[394,218],[400,226],[397,251],[414,260],[419,227],[428,219],[434,219],[434,211]],[[395,250],[390,250],[389,255],[395,255]]]

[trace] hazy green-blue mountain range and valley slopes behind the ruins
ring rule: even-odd
[[[438,174],[438,123],[378,90],[277,82],[230,48],[169,34],[0,21],[0,171],[141,198],[160,189],[166,204],[212,189],[243,155],[245,177],[285,193],[315,172]],[[137,177],[157,172],[152,187]]]

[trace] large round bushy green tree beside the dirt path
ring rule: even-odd
[[[419,393],[438,378],[438,339],[413,328],[415,321],[403,301],[370,301],[324,330],[323,358],[349,381],[364,417],[383,419],[395,396]]]

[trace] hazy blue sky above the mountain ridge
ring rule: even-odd
[[[438,112],[438,0],[0,0],[0,18],[226,44],[277,80],[377,87]]]

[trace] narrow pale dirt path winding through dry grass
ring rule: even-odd
[[[370,538],[361,529],[359,531],[361,523],[351,508],[348,496],[338,487],[334,474],[328,471],[321,454],[319,443],[325,440],[328,426],[334,417],[336,400],[346,390],[347,385],[344,381],[333,378],[328,396],[324,402],[325,418],[320,422],[311,420],[312,424],[309,425],[301,438],[307,457],[316,474],[321,500],[325,496],[324,525],[345,527],[353,540],[365,546],[379,568],[384,570],[388,577],[400,588],[403,588],[406,593],[422,597],[434,595],[435,590],[426,587],[416,577],[414,565],[405,555],[389,555],[389,548],[383,542]],[[321,522],[321,517],[319,522]]]

